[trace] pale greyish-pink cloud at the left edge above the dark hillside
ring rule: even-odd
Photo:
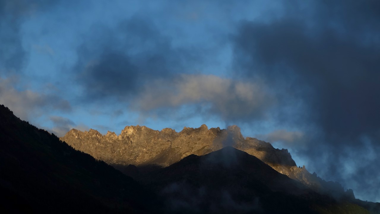
[[[17,90],[17,79],[0,78],[0,103],[12,109],[14,114],[23,120],[49,111],[70,112],[71,105],[67,100],[55,94],[40,94],[32,90]]]

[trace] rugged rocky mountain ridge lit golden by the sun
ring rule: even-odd
[[[101,135],[93,129],[89,132],[72,129],[60,139],[117,168],[130,164],[169,166],[190,154],[205,155],[224,146],[232,146],[320,193],[329,193],[336,198],[355,198],[351,189],[345,191],[339,183],[326,182],[317,174],[309,173],[305,166],[296,166],[287,149],[275,149],[270,143],[256,138],[244,139],[236,125],[227,129],[209,129],[201,125],[199,128],[185,127],[180,132],[171,128],[158,131],[137,125],[125,127],[120,135],[114,132]]]

